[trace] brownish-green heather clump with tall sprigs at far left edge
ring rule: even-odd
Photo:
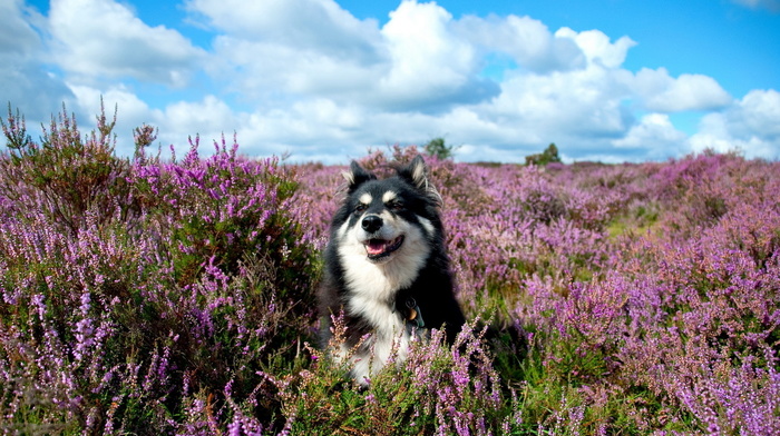
[[[74,235],[88,212],[99,222],[128,219],[138,208],[127,182],[129,161],[114,156],[115,125],[116,113],[109,121],[101,105],[97,132],[82,138],[64,106],[39,145],[27,135],[23,117],[18,111],[14,117],[9,106],[2,129],[10,153],[0,160],[0,195],[28,214],[46,214]]]

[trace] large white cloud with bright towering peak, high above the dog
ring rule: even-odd
[[[404,1],[382,28],[376,20],[357,20],[332,1],[293,3],[260,2],[248,9],[211,0],[188,3],[224,31],[215,39],[212,68],[232,91],[267,100],[283,90],[291,93],[287,101],[305,96],[384,110],[442,111],[498,90],[477,76],[472,43],[457,34],[451,14],[436,3]],[[309,3],[319,7],[294,12]]]

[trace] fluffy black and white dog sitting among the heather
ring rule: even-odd
[[[344,172],[347,199],[335,212],[325,249],[318,297],[323,341],[331,316],[343,311],[345,341],[332,349],[351,355],[351,375],[360,384],[396,353],[402,361],[410,340],[423,329],[446,326],[450,344],[465,323],[455,298],[439,207],[417,156],[396,175],[378,179],[352,161]]]

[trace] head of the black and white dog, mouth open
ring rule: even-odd
[[[428,169],[417,156],[380,180],[352,161],[344,172],[348,195],[337,236],[344,249],[383,264],[407,254],[425,259],[440,231],[437,207],[441,197],[428,181]]]

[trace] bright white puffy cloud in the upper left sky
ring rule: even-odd
[[[53,0],[53,56],[84,78],[136,78],[182,87],[205,54],[175,30],[149,27],[113,0]]]

